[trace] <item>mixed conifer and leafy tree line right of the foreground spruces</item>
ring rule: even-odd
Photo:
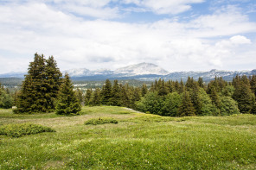
[[[79,91],[79,90],[78,90]],[[80,102],[86,105],[116,105],[161,116],[227,116],[256,114],[256,76],[236,76],[232,82],[215,77],[208,85],[202,78],[165,82],[156,80],[148,88],[118,84],[106,79],[95,91],[87,89]]]

